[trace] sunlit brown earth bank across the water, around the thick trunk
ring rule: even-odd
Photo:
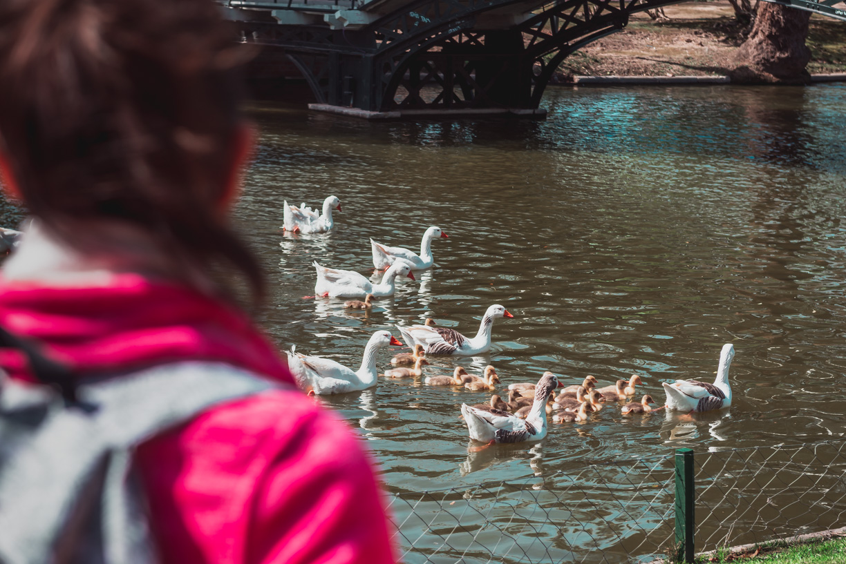
[[[567,57],[554,77],[572,83],[589,76],[722,76],[742,40],[727,0],[667,6],[667,21],[634,14],[618,31]],[[846,25],[814,15],[806,42],[810,74],[846,73]]]

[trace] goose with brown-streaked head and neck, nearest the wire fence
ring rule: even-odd
[[[552,372],[541,376],[535,388],[535,402],[526,419],[507,411],[485,411],[462,403],[461,414],[467,422],[470,438],[488,444],[541,441],[547,436],[547,397],[557,387],[558,378]]]

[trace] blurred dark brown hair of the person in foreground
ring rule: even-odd
[[[212,0],[0,1],[0,154],[25,204],[72,245],[80,222],[129,222],[261,296],[217,207],[245,58]]]

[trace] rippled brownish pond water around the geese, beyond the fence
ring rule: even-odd
[[[503,385],[543,370],[603,385],[639,374],[658,402],[662,381],[710,381],[722,344],[736,348],[730,409],[607,408],[532,447],[469,452],[459,405],[486,392],[381,379],[328,397],[395,491],[842,436],[844,101],[843,85],[551,89],[542,122],[255,107],[261,146],[238,214],[271,275],[261,320],[279,348],[357,368],[372,331],[399,337],[395,325],[433,317],[475,334],[503,304],[514,319],[496,321],[489,356],[433,359],[426,374],[488,363]],[[343,206],[333,233],[279,230],[283,200],[329,194]],[[303,298],[312,260],[369,274],[369,238],[419,249],[430,225],[449,234],[432,244],[437,266],[371,312]]]

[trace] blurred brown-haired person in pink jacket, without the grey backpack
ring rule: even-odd
[[[360,439],[294,388],[224,282],[261,299],[228,226],[254,140],[229,31],[212,0],[0,2],[0,178],[35,218],[0,326],[80,380],[202,361],[280,385],[135,449],[159,561],[392,562]],[[20,350],[0,368],[38,385]]]

